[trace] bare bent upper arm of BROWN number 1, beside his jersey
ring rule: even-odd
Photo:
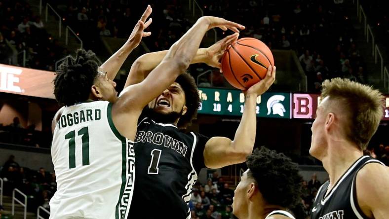
[[[213,137],[205,144],[204,163],[207,168],[217,169],[242,163],[249,154],[234,146],[233,141],[225,137]]]

